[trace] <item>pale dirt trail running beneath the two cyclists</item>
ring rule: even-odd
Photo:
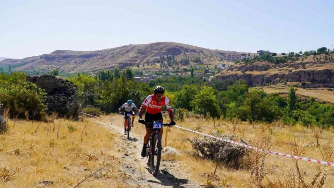
[[[123,118],[95,119],[96,123],[107,127],[112,133],[116,134],[119,150],[118,158],[122,159],[119,164],[127,178],[125,183],[133,187],[172,187],[172,188],[195,188],[201,187],[189,180],[189,175],[182,172],[180,162],[161,161],[160,172],[153,176],[149,166],[141,157],[140,152],[143,146],[144,127],[135,122],[133,130],[130,132],[130,140],[124,135]],[[137,132],[137,133],[136,133]],[[121,139],[119,139],[121,138]],[[124,176],[123,176],[124,177]]]

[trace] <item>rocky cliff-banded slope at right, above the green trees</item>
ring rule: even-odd
[[[215,75],[215,79],[242,79],[250,86],[288,83],[301,87],[334,87],[334,61],[233,65]]]

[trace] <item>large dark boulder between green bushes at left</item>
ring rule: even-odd
[[[82,107],[75,95],[77,87],[72,82],[46,74],[28,75],[27,81],[35,83],[47,93],[48,114],[57,112],[59,117],[78,118]]]

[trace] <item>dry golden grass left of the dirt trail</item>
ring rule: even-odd
[[[115,139],[107,129],[88,120],[54,120],[18,120],[14,128],[14,121],[8,121],[8,132],[0,136],[0,187],[74,187],[101,166],[80,187],[125,187],[117,174]]]

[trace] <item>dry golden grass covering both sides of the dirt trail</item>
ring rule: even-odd
[[[166,117],[165,120],[168,118]],[[122,171],[121,167],[118,166],[122,161],[117,157],[120,155],[120,150],[115,144],[118,142],[117,137],[105,127],[89,120],[71,122],[55,119],[55,122],[50,124],[34,122],[32,125],[28,121],[16,121],[14,128],[14,121],[9,120],[8,123],[8,132],[0,136],[0,155],[2,157],[0,161],[0,187],[34,187],[42,181],[52,181],[54,187],[73,187],[100,166],[106,166],[106,169],[98,172],[80,186],[126,187],[122,183],[122,179],[127,177],[118,174]],[[230,135],[234,133],[238,139],[242,138],[255,146],[265,147],[264,149],[271,146],[272,151],[287,154],[297,152],[304,157],[313,159],[325,159],[325,161],[330,162],[334,160],[334,144],[329,142],[334,133],[332,128],[321,130],[319,134],[318,130],[306,129],[301,125],[284,127],[280,122],[270,125],[261,123],[250,125],[245,122],[186,118],[184,122],[177,123],[183,127],[197,129],[208,134],[219,132]],[[39,124],[40,127],[35,134]],[[70,126],[66,126],[66,124]],[[54,126],[55,129],[53,129]],[[135,128],[132,132],[143,135],[144,129]],[[266,140],[270,141],[268,143],[271,145],[268,143],[266,145],[264,142],[265,145],[261,145],[259,139],[264,140],[261,139],[264,138],[263,135],[266,136]],[[163,146],[165,145],[165,136],[166,129],[162,138]],[[296,161],[273,155],[267,155],[264,158],[255,151],[253,155],[243,159],[241,169],[230,169],[219,165],[216,172],[213,173],[216,163],[194,154],[188,141],[188,139],[199,137],[202,136],[170,128],[167,146],[177,149],[179,153],[164,155],[162,164],[164,161],[177,161],[180,165],[178,168],[188,174],[191,180],[206,187],[252,187],[254,185],[283,187],[284,183],[290,181],[292,177],[298,183],[298,175],[295,171]],[[137,139],[142,141],[142,138]],[[294,145],[295,139],[298,139],[300,148],[296,147],[296,144]],[[116,147],[114,147],[115,145]],[[291,151],[291,149],[293,150]],[[324,153],[323,151],[329,152]],[[334,187],[334,168],[328,167],[324,171],[322,167],[319,164],[298,161],[298,170],[306,182],[305,184],[312,183],[318,174],[319,178],[316,181],[321,183],[323,180],[321,177],[326,173],[323,187]],[[253,169],[255,171],[253,171],[252,177]],[[143,167],[139,170],[147,171]],[[277,177],[280,178],[280,181]]]

